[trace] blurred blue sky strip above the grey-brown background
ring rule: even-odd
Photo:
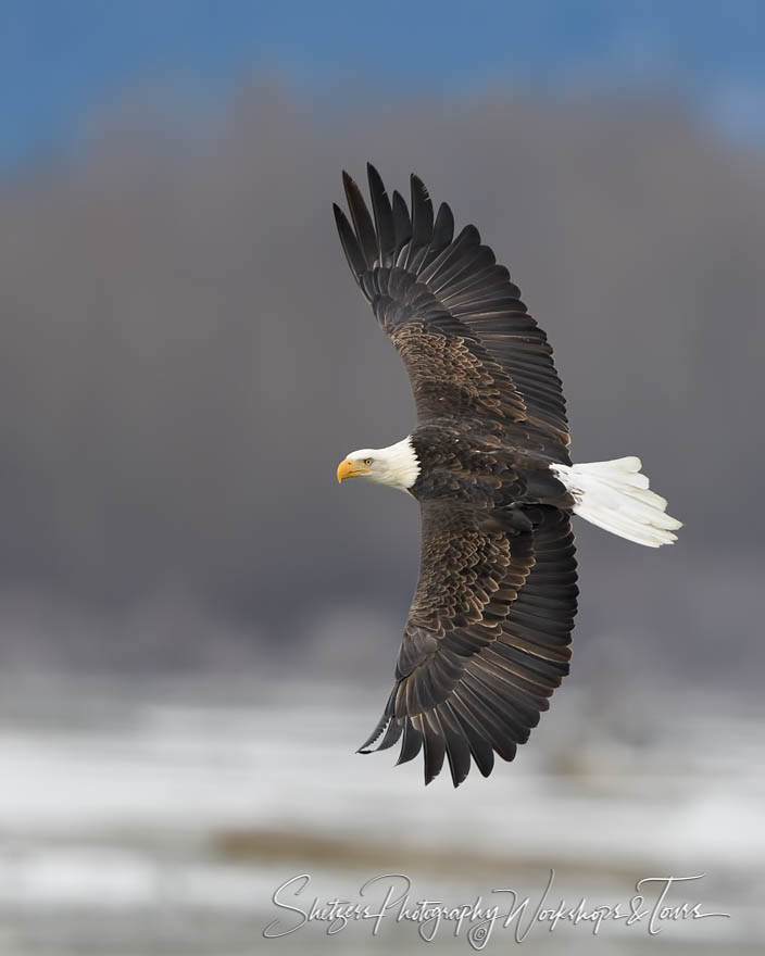
[[[0,0],[0,163],[63,152],[133,88],[225,101],[267,71],[309,95],[359,85],[463,92],[522,85],[672,89],[765,139],[761,0]]]

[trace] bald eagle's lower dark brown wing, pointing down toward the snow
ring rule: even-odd
[[[419,581],[385,714],[363,752],[425,751],[425,782],[471,757],[486,777],[512,760],[568,674],[577,596],[568,515],[540,505],[509,534],[479,512],[424,502]]]

